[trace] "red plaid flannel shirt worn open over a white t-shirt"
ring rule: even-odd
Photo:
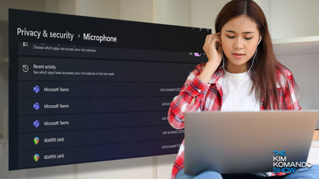
[[[289,83],[281,82],[284,92],[278,88],[282,109],[300,110],[298,100],[295,97],[293,75],[283,65],[278,65],[286,75]],[[205,63],[196,66],[195,70],[189,74],[179,94],[175,96],[168,110],[168,122],[175,129],[184,128],[184,112],[186,111],[216,111],[221,109],[222,88],[217,83],[218,79],[224,75],[223,68],[219,68],[212,75],[209,84],[203,83],[198,75],[203,71]],[[277,70],[278,73],[278,70]],[[263,99],[260,99],[260,110],[265,110]],[[175,179],[176,174],[184,167],[184,140],[181,143],[178,154],[173,165],[171,179]],[[285,175],[285,173],[272,173],[275,175]]]

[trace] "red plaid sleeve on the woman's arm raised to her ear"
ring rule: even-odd
[[[196,66],[180,92],[175,96],[168,109],[168,122],[175,129],[184,128],[184,112],[201,111],[210,84],[203,83],[198,75],[203,71],[204,64]]]

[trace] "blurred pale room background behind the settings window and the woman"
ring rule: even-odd
[[[210,28],[215,33],[215,18],[228,1],[0,0],[0,179],[169,179],[176,157],[172,154],[8,172],[8,8]],[[255,1],[266,15],[277,59],[292,71],[301,89],[300,105],[303,109],[319,109],[319,0]],[[52,23],[59,25],[58,21]]]

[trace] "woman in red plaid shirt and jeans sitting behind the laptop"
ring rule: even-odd
[[[232,0],[219,12],[217,33],[207,35],[203,50],[208,62],[199,64],[188,76],[168,110],[168,121],[176,129],[184,127],[186,111],[300,110],[299,89],[292,73],[276,59],[266,17],[253,0]],[[216,50],[216,44],[218,48]],[[200,130],[200,129],[199,129]],[[179,148],[171,178],[258,178],[265,173],[220,175],[207,171],[186,175],[184,141]],[[277,173],[275,178],[319,176],[319,168],[301,168],[293,174]]]

